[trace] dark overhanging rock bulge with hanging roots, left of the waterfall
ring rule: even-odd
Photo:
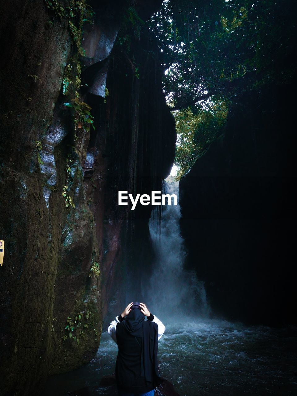
[[[139,205],[131,211],[130,207],[118,206],[118,191],[150,194],[151,190],[160,190],[174,160],[175,124],[162,90],[157,51],[148,31],[143,31],[140,38],[131,37],[129,51],[116,43],[104,66],[109,95],[104,100],[93,91],[86,93],[96,132],[91,131],[89,139],[84,188],[87,199],[91,197],[89,207],[100,241],[103,315],[109,310],[107,322],[110,315],[122,309],[123,301],[126,303],[123,285],[127,277],[131,279],[130,272],[141,293],[137,271],[148,268],[139,265],[139,260],[143,254],[152,254],[148,232],[151,208]],[[85,70],[84,78],[91,81],[93,73],[96,80],[94,67]],[[143,249],[135,252],[135,246]]]

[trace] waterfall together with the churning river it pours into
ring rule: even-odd
[[[178,184],[168,185],[178,195]],[[166,331],[159,341],[159,367],[181,396],[297,395],[296,328],[244,326],[211,319],[203,283],[183,270],[179,206],[167,206],[161,225],[150,225],[156,263],[146,303]],[[113,318],[110,318],[112,320]],[[115,395],[100,386],[114,373],[117,346],[103,332],[97,355],[71,373],[49,377],[45,395],[88,387],[90,395]]]

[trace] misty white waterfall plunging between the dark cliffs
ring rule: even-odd
[[[179,197],[178,181],[164,182],[164,189],[166,194]],[[183,267],[186,251],[179,229],[180,206],[167,204],[162,208],[161,224],[160,221],[150,221],[156,260],[148,282],[148,308],[175,321],[193,318],[193,315],[205,317],[209,308],[203,282],[197,280],[194,271],[186,271]]]

